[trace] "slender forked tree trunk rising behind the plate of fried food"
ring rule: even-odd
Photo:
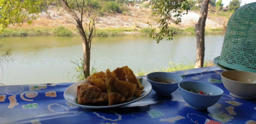
[[[87,35],[85,34],[85,30],[83,30],[82,19],[79,19],[78,15],[73,11],[67,1],[60,0],[62,6],[64,7],[65,11],[69,13],[75,19],[75,25],[78,29],[78,32],[82,38],[82,46],[83,46],[83,74],[85,78],[90,76],[90,47],[89,42],[87,39]]]

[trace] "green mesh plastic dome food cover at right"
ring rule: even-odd
[[[256,2],[240,7],[230,17],[219,64],[256,73]]]

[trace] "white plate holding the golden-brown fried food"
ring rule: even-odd
[[[124,102],[123,104],[117,104],[117,105],[106,105],[106,106],[93,106],[93,105],[80,105],[75,102],[77,99],[77,86],[81,84],[81,82],[76,82],[72,84],[71,86],[67,87],[67,89],[64,92],[64,99],[67,100],[67,102],[70,102],[70,104],[77,105],[78,107],[82,108],[114,108],[114,107],[121,107],[123,105],[131,104],[133,102],[136,102],[138,100],[141,100],[145,98],[152,90],[151,84],[145,79],[142,78],[142,85],[144,86],[143,92],[141,93],[141,96],[138,98],[133,98],[128,102]]]

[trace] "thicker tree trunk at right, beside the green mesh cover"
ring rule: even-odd
[[[202,2],[201,14],[195,25],[196,32],[196,65],[195,68],[204,66],[204,27],[206,27],[206,18],[208,13],[209,0]]]

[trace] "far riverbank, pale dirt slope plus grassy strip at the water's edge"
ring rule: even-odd
[[[159,17],[152,15],[151,9],[143,7],[127,7],[122,14],[107,14],[97,18],[97,37],[113,37],[121,35],[146,35],[149,29],[148,22],[158,26]],[[227,24],[229,12],[208,13],[206,20],[206,35],[223,34]],[[194,25],[199,19],[199,12],[189,11],[183,15],[180,24],[171,22],[174,34],[193,35]],[[57,29],[64,30],[57,30]],[[21,27],[10,25],[0,34],[0,37],[30,37],[42,35],[75,36],[79,35],[72,17],[62,7],[49,7],[42,12],[31,25],[24,23]]]

